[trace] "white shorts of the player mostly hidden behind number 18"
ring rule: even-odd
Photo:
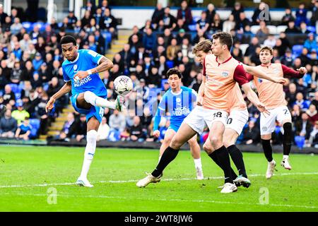
[[[230,111],[230,115],[226,121],[225,129],[233,129],[238,135],[240,135],[248,120],[249,112],[247,109]]]

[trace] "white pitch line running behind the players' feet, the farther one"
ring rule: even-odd
[[[282,174],[273,174],[274,176],[291,176],[291,175],[314,175],[318,174],[318,172],[294,172],[294,173],[282,173]],[[264,177],[264,174],[251,174],[249,177]],[[224,177],[207,177],[204,180],[208,179],[223,179]],[[170,179],[163,179],[165,182],[172,182],[172,181],[191,181],[196,180],[194,178],[170,178]],[[138,179],[130,179],[130,180],[121,180],[121,181],[100,181],[100,182],[92,182],[92,184],[104,184],[104,183],[131,183],[131,182],[138,182]],[[54,184],[21,184],[21,185],[1,185],[0,189],[6,188],[23,188],[23,187],[35,187],[35,186],[64,186],[64,185],[75,185],[76,183],[54,183]]]

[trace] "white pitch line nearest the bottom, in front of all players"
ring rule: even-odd
[[[47,196],[47,194],[25,194],[25,193],[18,193],[18,194],[10,194],[5,193],[1,195],[18,195],[18,196]],[[142,201],[177,201],[177,202],[192,202],[192,203],[220,203],[220,204],[231,204],[231,205],[249,205],[249,206],[280,206],[280,207],[288,207],[288,208],[310,208],[315,209],[318,206],[298,206],[298,205],[288,205],[288,204],[261,204],[261,203],[242,203],[242,202],[230,202],[230,201],[214,201],[214,200],[195,200],[195,199],[179,199],[179,198],[132,198],[132,197],[120,197],[120,196],[74,196],[74,195],[61,195],[58,194],[59,197],[65,198],[113,198],[113,199],[138,199]]]

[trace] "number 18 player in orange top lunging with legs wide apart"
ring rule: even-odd
[[[228,112],[230,112],[230,98],[236,83],[242,86],[249,100],[258,107],[260,112],[266,113],[268,111],[249,86],[243,66],[232,58],[230,54],[232,43],[230,33],[219,32],[213,35],[212,48],[214,55],[207,55],[204,64],[206,85],[204,85],[203,105],[195,107],[184,119],[169,147],[163,153],[157,167],[147,177],[139,180],[136,186],[144,187],[149,183],[160,182],[163,169],[175,159],[179,148],[196,133],[202,133],[204,127],[208,126],[213,133],[209,134],[207,142],[211,142],[220,162],[220,167],[225,174],[225,184],[221,193],[237,191],[237,186],[232,180],[228,149],[223,145],[223,133]]]

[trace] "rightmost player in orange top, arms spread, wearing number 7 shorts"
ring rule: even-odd
[[[273,59],[273,49],[271,47],[262,47],[259,53],[259,59],[261,65],[257,68],[264,71],[264,73],[271,76],[271,78],[302,78],[307,73],[305,67],[301,67],[294,71],[283,64],[271,64]],[[248,75],[249,80],[253,79]],[[283,160],[281,166],[285,169],[291,169],[288,161],[290,148],[293,140],[291,115],[287,107],[285,100],[285,93],[283,92],[283,85],[272,83],[266,79],[260,79],[254,77],[254,83],[259,93],[259,100],[266,105],[271,112],[269,117],[261,115],[260,131],[261,131],[261,143],[263,145],[264,155],[268,161],[268,167],[266,171],[266,178],[270,179],[273,176],[273,170],[275,169],[276,162],[273,160],[271,149],[271,133],[275,130],[276,121],[283,126]]]

